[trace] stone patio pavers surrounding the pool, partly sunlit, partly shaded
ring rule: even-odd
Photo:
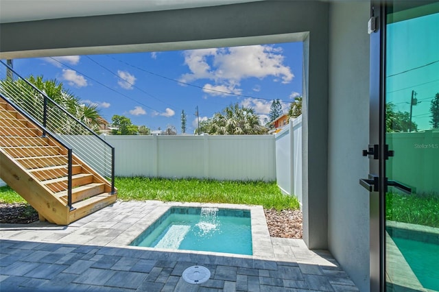
[[[175,205],[117,202],[69,226],[3,224],[0,291],[358,291],[329,252],[270,238],[261,207],[217,205],[251,208],[253,256],[128,246]],[[185,282],[191,265],[209,280]]]

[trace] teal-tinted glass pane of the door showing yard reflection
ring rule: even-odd
[[[388,8],[387,291],[439,291],[439,3]],[[399,5],[405,5],[404,8]]]

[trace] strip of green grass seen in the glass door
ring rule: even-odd
[[[439,228],[439,195],[388,193],[385,204],[388,220]]]

